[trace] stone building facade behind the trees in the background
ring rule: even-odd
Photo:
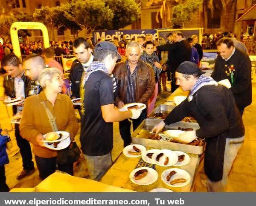
[[[13,13],[34,13],[35,9],[40,9],[42,6],[60,6],[61,3],[67,3],[68,0],[0,0],[1,5],[12,5]],[[228,2],[226,4],[226,2]],[[203,0],[202,5],[197,12],[192,14],[192,20],[185,23],[185,28],[204,28],[207,34],[215,34],[223,31],[232,31],[237,36],[241,32],[246,32],[248,23],[236,22],[236,19],[241,17],[251,6],[256,4],[256,0],[213,0],[211,8],[209,8],[209,0]],[[141,18],[135,23],[126,26],[123,29],[161,29],[175,28],[172,22],[167,20],[167,14],[163,14],[161,19],[160,14],[157,15],[160,6],[148,6],[147,1],[141,1]],[[6,9],[8,7],[6,6]],[[170,7],[172,14],[172,6]],[[158,16],[159,22],[156,20]],[[249,22],[250,24],[250,22]],[[253,24],[252,24],[253,26]],[[69,40],[73,39],[73,34],[70,30],[57,31],[54,29],[53,40]],[[37,35],[37,34],[35,34]],[[80,31],[79,36],[83,36],[84,32]]]

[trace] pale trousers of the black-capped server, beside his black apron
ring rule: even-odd
[[[224,153],[223,163],[223,176],[222,180],[213,182],[207,178],[207,191],[208,192],[225,192],[228,180],[228,174],[233,165],[234,160],[239,149],[244,142],[244,136],[239,138],[227,138]]]

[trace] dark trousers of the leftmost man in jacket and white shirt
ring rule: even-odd
[[[15,137],[17,141],[17,146],[20,148],[20,155],[22,157],[23,169],[31,170],[34,168],[34,163],[32,161],[32,152],[30,148],[29,141],[23,139],[20,136],[19,125],[15,124]]]

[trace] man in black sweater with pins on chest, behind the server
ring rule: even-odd
[[[212,78],[216,81],[228,79],[236,105],[243,115],[244,108],[252,103],[251,61],[247,54],[234,47],[231,38],[217,42],[219,55],[215,60]]]

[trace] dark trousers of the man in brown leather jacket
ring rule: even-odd
[[[143,109],[143,112],[140,114],[140,117],[136,120],[131,119],[133,129],[137,129],[137,127],[142,123],[143,120],[147,118],[147,109]],[[131,122],[126,119],[119,122],[119,131],[122,139],[124,140],[124,147],[131,144]]]

